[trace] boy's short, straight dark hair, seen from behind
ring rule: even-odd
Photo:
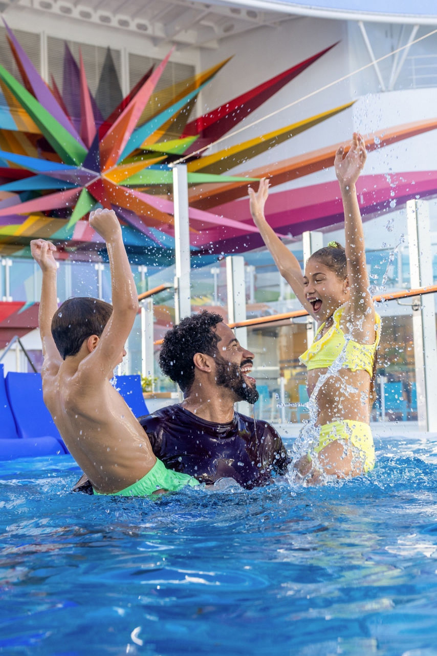
[[[100,337],[111,314],[111,304],[98,298],[65,300],[52,318],[52,335],[62,359],[77,355],[91,335]]]

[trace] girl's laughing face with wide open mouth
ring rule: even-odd
[[[303,285],[305,296],[320,323],[329,319],[349,299],[347,277],[340,278],[328,266],[312,258],[305,266]]]

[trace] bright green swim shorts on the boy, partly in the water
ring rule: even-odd
[[[199,485],[199,481],[188,474],[181,474],[180,472],[166,469],[164,463],[157,459],[148,474],[143,476],[143,478],[136,483],[132,483],[132,485],[125,487],[119,492],[103,494],[97,492],[94,488],[93,489],[94,494],[101,495],[102,497],[149,497],[153,492],[156,492],[159,489],[176,492],[185,485],[195,487],[196,485]]]

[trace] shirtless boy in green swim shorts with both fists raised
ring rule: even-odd
[[[56,247],[31,241],[43,272],[39,330],[44,363],[44,401],[71,455],[94,493],[143,497],[197,485],[187,474],[166,470],[125,401],[111,386],[121,363],[138,298],[115,212],[97,209],[90,226],[106,242],[113,305],[96,298],[56,302]]]

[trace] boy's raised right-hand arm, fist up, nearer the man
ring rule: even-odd
[[[90,214],[89,223],[106,242],[111,269],[113,312],[105,325],[98,348],[87,359],[92,367],[98,360],[96,375],[102,374],[107,377],[121,361],[124,342],[138,314],[138,293],[124,249],[121,226],[115,212],[97,209]]]

